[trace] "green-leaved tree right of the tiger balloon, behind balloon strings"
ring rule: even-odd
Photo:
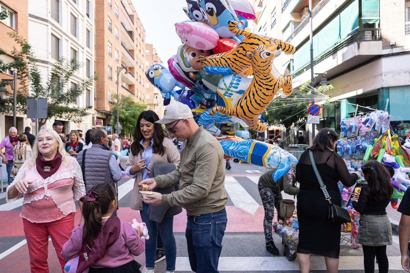
[[[316,88],[316,92],[322,92],[322,91],[327,91],[333,89],[332,85],[328,85],[326,89],[322,89],[321,87]],[[280,94],[280,91],[278,93]],[[299,88],[298,88],[297,94],[292,93],[289,95],[286,99],[273,99],[271,104],[269,104],[268,107],[266,107],[266,112],[265,112],[265,122],[267,122],[269,125],[276,125],[276,124],[282,124],[285,126],[286,131],[285,131],[285,137],[284,137],[284,144],[285,146],[288,146],[289,144],[292,144],[292,139],[291,138],[291,127],[292,124],[296,125],[297,127],[301,126],[303,123],[306,122],[306,116],[307,116],[307,107],[311,104],[311,101],[309,100],[311,94],[312,94],[312,89],[310,87],[310,81],[306,81],[303,83]],[[306,94],[306,95],[301,95],[301,94]],[[306,99],[304,99],[305,97]],[[327,100],[323,100],[319,103],[317,103],[319,106],[322,106],[325,104]],[[291,104],[292,106],[289,106]],[[288,107],[286,107],[288,106]]]

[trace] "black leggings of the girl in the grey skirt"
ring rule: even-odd
[[[389,271],[389,260],[386,255],[386,246],[362,246],[364,273],[374,273],[374,257],[377,257],[379,273]]]

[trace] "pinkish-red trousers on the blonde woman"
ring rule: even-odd
[[[24,233],[27,239],[32,273],[48,273],[48,236],[57,253],[64,273],[64,259],[61,257],[63,245],[68,241],[74,229],[74,213],[48,223],[32,223],[23,219]]]

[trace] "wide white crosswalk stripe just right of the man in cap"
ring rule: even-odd
[[[252,215],[254,215],[257,208],[259,208],[259,204],[255,199],[253,199],[244,187],[242,187],[232,176],[225,177],[225,190],[228,192],[230,199],[236,207],[241,208]]]

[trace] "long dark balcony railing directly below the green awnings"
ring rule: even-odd
[[[326,50],[323,50],[321,54],[319,54],[316,58],[313,59],[313,65],[320,63],[324,59],[332,56],[333,54],[337,53],[339,50],[347,47],[348,45],[361,42],[361,41],[381,41],[381,29],[380,28],[357,28],[353,30],[350,34],[345,36],[344,38],[337,41],[335,44],[328,47]],[[310,61],[306,62],[296,70],[292,77],[297,77],[306,70],[310,69]]]

